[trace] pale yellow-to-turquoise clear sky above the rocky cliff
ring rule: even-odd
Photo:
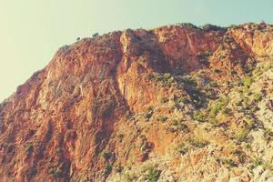
[[[272,0],[0,0],[0,102],[76,37],[160,25],[273,24]]]

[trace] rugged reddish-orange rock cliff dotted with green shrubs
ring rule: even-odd
[[[0,105],[0,181],[272,180],[272,33],[169,25],[61,47]]]

